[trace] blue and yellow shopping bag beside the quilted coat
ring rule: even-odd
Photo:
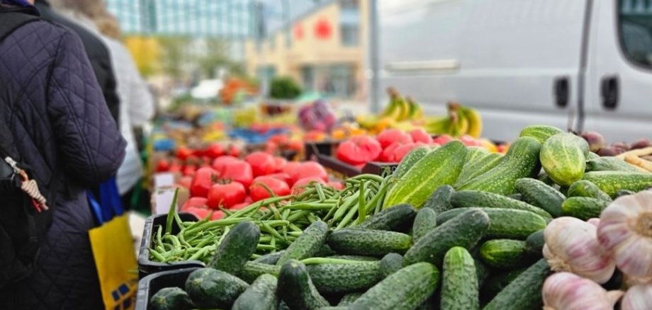
[[[102,183],[99,200],[87,192],[89,205],[99,223],[89,231],[104,307],[107,310],[130,310],[135,304],[138,275],[136,255],[124,214],[116,179]]]

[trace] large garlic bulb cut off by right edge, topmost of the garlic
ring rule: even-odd
[[[652,280],[652,192],[614,200],[600,215],[597,239],[624,274]]]

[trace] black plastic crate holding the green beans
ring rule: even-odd
[[[184,222],[198,221],[197,217],[190,213],[179,213],[179,217]],[[157,226],[160,225],[165,227],[166,220],[167,214],[160,214],[147,217],[147,220],[145,221],[145,229],[142,233],[142,241],[140,241],[140,253],[138,253],[138,277],[140,279],[156,272],[206,266],[198,260],[187,260],[173,263],[159,263],[150,260],[150,245],[152,243],[152,237],[156,234]],[[179,230],[179,226],[176,226],[176,222],[172,222],[172,234],[178,234]]]

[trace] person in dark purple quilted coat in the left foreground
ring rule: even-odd
[[[9,1],[30,0],[0,0]],[[104,309],[86,188],[118,171],[126,144],[81,40],[47,21],[22,25],[0,42],[0,85],[0,122],[33,177],[57,193],[35,270],[0,291],[0,309]]]

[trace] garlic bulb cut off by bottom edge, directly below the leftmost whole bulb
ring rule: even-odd
[[[597,283],[570,272],[558,272],[544,282],[544,310],[612,310],[622,291],[607,292]]]

